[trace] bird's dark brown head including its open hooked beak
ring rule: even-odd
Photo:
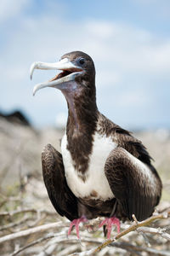
[[[54,69],[62,72],[47,82],[35,85],[33,95],[42,88],[54,87],[61,90],[64,95],[78,97],[83,91],[89,96],[95,96],[94,61],[82,51],[65,54],[60,61],[54,63],[34,62],[31,65],[31,78],[34,69]]]

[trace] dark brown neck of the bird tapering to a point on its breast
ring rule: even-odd
[[[75,162],[77,173],[85,180],[89,155],[92,152],[93,135],[96,131],[98,108],[95,95],[79,98],[67,97],[68,120],[66,126],[67,148]]]

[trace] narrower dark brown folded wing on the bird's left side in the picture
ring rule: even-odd
[[[50,144],[42,152],[42,174],[49,199],[59,215],[70,220],[78,218],[77,198],[66,183],[62,155]]]

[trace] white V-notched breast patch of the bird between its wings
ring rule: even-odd
[[[82,198],[90,194],[93,195],[96,192],[95,199],[108,200],[113,198],[114,195],[105,177],[105,160],[111,150],[116,148],[116,143],[113,143],[110,137],[102,137],[97,132],[94,134],[92,154],[89,156],[85,183],[81,177],[78,177],[66,145],[67,137],[65,135],[61,142],[61,151],[65,166],[65,177],[73,194]]]

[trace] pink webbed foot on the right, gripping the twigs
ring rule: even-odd
[[[121,231],[121,224],[118,218],[116,217],[111,217],[111,218],[105,218],[100,224],[99,224],[99,228],[101,228],[103,225],[106,224],[106,230],[107,230],[107,239],[111,238],[111,227],[112,225],[116,225],[116,230],[117,233],[120,233]]]

